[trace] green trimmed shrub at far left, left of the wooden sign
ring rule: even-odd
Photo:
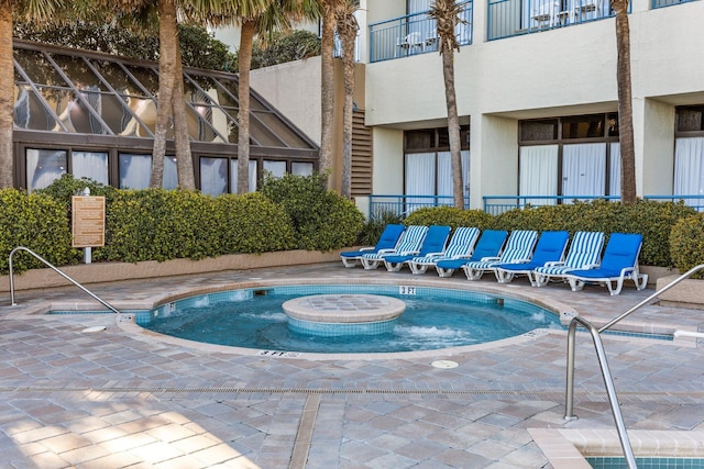
[[[54,199],[15,189],[0,190],[0,272],[9,272],[12,249],[24,246],[55,266],[77,264],[80,250],[70,247],[66,209]],[[15,272],[46,267],[33,256],[18,252]]]

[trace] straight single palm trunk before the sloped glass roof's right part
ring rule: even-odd
[[[254,22],[243,21],[240,35],[240,69],[238,75],[238,193],[250,191],[250,69]]]

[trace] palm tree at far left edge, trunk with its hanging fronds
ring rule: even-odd
[[[57,20],[64,8],[63,0],[0,0],[0,189],[10,188],[14,182],[12,16],[16,14],[28,20],[52,21]]]

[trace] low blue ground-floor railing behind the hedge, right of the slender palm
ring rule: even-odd
[[[575,200],[591,201],[596,199],[619,201],[618,196],[485,196],[484,211],[492,215],[507,212],[513,209],[522,209],[527,205],[556,205],[558,203],[572,203]],[[644,196],[647,200],[659,200],[666,202],[683,201],[686,205],[704,212],[704,196]]]

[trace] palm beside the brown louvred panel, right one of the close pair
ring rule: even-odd
[[[341,0],[336,5],[338,35],[342,41],[344,69],[344,108],[342,118],[342,178],[340,193],[352,197],[352,112],[354,108],[354,42],[359,25],[354,12],[359,0]]]

